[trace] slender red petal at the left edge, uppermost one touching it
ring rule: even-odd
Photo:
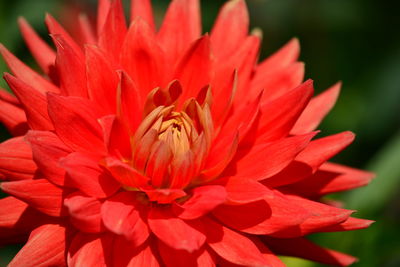
[[[22,63],[2,44],[0,44],[0,53],[2,54],[12,73],[14,73],[14,75],[24,83],[35,88],[35,91],[40,93],[59,92],[59,89],[56,86]]]

